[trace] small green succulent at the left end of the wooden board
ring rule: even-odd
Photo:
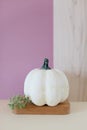
[[[29,97],[17,95],[10,98],[10,102],[8,105],[11,109],[15,109],[15,108],[21,109],[26,107],[27,103],[30,103]]]

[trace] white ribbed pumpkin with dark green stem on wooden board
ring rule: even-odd
[[[45,58],[41,69],[34,69],[27,75],[24,94],[35,105],[56,106],[68,98],[69,83],[62,71],[50,69]]]

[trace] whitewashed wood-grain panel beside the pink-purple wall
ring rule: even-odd
[[[54,0],[54,67],[67,75],[69,99],[87,101],[87,0]]]

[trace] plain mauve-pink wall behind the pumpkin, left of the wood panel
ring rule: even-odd
[[[0,98],[23,94],[26,74],[53,66],[52,0],[0,0]]]

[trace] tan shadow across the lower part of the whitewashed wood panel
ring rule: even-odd
[[[65,72],[65,74],[70,85],[69,100],[87,101],[87,75],[76,75],[68,72]]]

